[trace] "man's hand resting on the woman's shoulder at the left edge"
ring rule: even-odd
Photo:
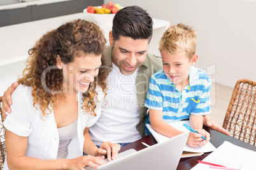
[[[10,105],[12,104],[11,101],[11,94],[13,94],[13,91],[18,87],[18,82],[14,82],[11,84],[11,86],[4,92],[3,95],[3,116],[4,119],[6,119],[7,114],[6,111],[10,114],[11,113],[11,108]]]

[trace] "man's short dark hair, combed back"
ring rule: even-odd
[[[153,34],[153,20],[150,15],[139,6],[127,6],[119,10],[113,18],[112,35],[114,42],[120,36],[132,39],[148,39]]]

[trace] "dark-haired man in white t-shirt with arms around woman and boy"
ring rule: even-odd
[[[118,11],[110,31],[110,46],[104,58],[110,73],[106,105],[99,120],[90,128],[90,136],[96,145],[103,141],[119,143],[121,147],[144,136],[147,108],[144,107],[151,75],[162,68],[161,58],[147,53],[153,34],[153,20],[138,6],[127,6]],[[3,96],[3,111],[11,113],[11,93],[14,83]],[[222,127],[209,116],[204,125],[225,134]]]

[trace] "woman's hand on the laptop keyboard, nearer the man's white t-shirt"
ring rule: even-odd
[[[110,141],[104,141],[101,144],[101,147],[99,149],[95,150],[94,155],[95,156],[101,156],[101,155],[107,155],[108,160],[116,159],[118,151],[120,150],[121,146],[117,143],[111,143]],[[103,150],[106,150],[106,152],[103,152]],[[112,156],[111,156],[112,153]]]

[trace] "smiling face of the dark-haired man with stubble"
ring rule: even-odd
[[[110,45],[112,49],[112,62],[124,75],[131,75],[145,61],[148,50],[148,39],[132,39],[120,36],[113,43],[110,34]]]

